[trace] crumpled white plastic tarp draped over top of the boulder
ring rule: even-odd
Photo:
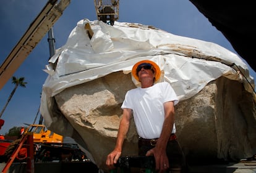
[[[92,27],[92,39],[85,30],[86,23]],[[180,100],[189,99],[220,76],[244,82],[245,89],[253,92],[242,75],[254,86],[247,65],[236,54],[213,42],[176,36],[137,23],[115,22],[111,26],[85,19],[77,23],[67,43],[56,51],[45,70],[49,75],[43,85],[40,111],[46,124],[53,121],[49,100],[54,95],[115,71],[129,74],[135,63],[146,59],[160,66],[160,81],[169,82]]]

